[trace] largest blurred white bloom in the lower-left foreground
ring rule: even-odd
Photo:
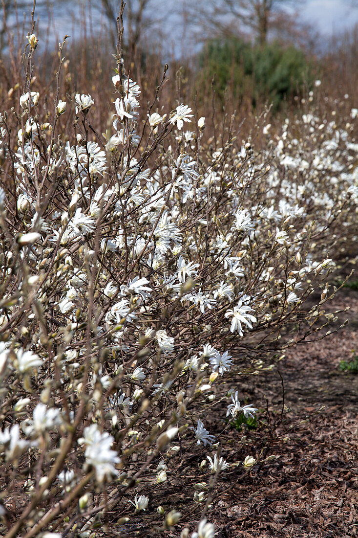
[[[84,437],[78,439],[78,443],[86,445],[86,463],[95,468],[98,482],[118,475],[114,465],[120,463],[120,458],[115,450],[111,450],[113,437],[106,431],[101,433],[97,424],[84,428],[83,435]]]

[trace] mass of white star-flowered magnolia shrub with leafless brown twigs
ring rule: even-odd
[[[333,318],[327,273],[356,239],[352,125],[312,113],[270,139],[260,123],[259,153],[232,128],[205,141],[185,104],[160,115],[160,88],[139,125],[119,47],[99,134],[96,102],[66,101],[60,69],[54,103],[31,91],[36,45],[32,34],[19,108],[0,119],[3,534],[198,521],[192,538],[213,536],[219,476],[260,458],[220,456],[231,417],[258,412],[240,404],[240,372]]]

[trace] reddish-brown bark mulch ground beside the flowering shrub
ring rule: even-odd
[[[339,314],[335,324],[348,318],[346,327],[290,350],[279,363],[286,407],[263,448],[277,458],[222,488],[212,513],[220,529],[217,538],[358,535],[358,374],[339,369],[341,360],[352,358],[352,350],[358,354],[358,291],[343,288],[331,309],[348,305],[349,312]],[[271,420],[280,420],[277,371],[247,377],[241,388],[260,407],[267,399]],[[253,443],[248,447],[256,441],[257,457],[259,431],[249,436]]]

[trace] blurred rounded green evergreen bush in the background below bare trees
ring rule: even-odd
[[[284,102],[291,103],[294,96],[312,88],[313,71],[312,60],[293,45],[215,39],[198,55],[197,91],[200,95],[205,81],[212,80],[221,101],[229,88],[238,104],[250,95],[253,107],[268,101],[277,110]]]

